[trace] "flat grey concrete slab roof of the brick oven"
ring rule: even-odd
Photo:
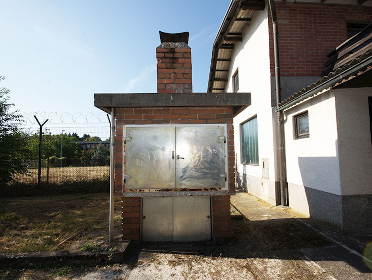
[[[118,107],[233,106],[234,113],[251,105],[250,93],[95,93],[94,106],[109,112]]]

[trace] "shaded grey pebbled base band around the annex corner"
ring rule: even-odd
[[[311,219],[330,223],[351,235],[372,234],[372,194],[336,195],[307,187],[305,193]]]

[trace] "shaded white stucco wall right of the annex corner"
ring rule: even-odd
[[[372,88],[336,89],[341,194],[372,194],[372,144],[368,96]]]

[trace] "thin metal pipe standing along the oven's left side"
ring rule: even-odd
[[[114,191],[115,191],[115,108],[111,108],[110,121],[110,226],[109,242],[114,240]]]

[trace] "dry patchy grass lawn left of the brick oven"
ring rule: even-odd
[[[120,219],[120,199],[115,198],[115,222]],[[0,198],[2,253],[48,251],[80,229],[75,239],[108,239],[109,193]]]

